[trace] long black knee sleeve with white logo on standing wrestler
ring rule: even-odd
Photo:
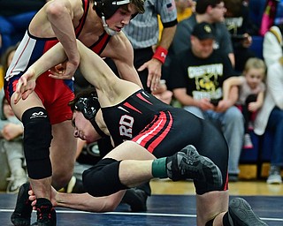
[[[50,162],[51,124],[46,109],[27,109],[23,116],[24,153],[28,177],[42,179],[52,175]]]

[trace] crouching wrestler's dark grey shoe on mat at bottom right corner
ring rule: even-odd
[[[266,226],[249,206],[246,200],[235,198],[230,201],[228,218],[232,226]]]

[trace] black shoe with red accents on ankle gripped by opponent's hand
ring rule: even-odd
[[[47,199],[36,200],[37,221],[32,226],[56,226],[56,211]]]

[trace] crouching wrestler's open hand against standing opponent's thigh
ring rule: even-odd
[[[17,83],[16,91],[14,94],[14,103],[19,102],[20,99],[26,100],[28,95],[34,92],[35,87],[35,73],[33,70],[28,69]]]

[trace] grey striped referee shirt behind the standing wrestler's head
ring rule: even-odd
[[[160,15],[164,27],[175,26],[178,23],[174,0],[146,0],[144,7],[145,12],[138,14],[123,29],[134,49],[144,49],[157,44],[157,15]]]

